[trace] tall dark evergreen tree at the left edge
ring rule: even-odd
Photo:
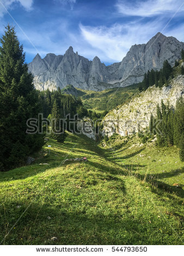
[[[0,169],[8,170],[23,164],[44,139],[26,133],[27,119],[38,117],[38,93],[14,27],[5,27],[0,41]]]

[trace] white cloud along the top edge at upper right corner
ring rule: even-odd
[[[118,0],[116,7],[120,14],[128,16],[150,17],[159,14],[173,14],[176,11],[183,11],[183,0],[147,0],[137,1],[136,3],[127,3],[125,0]],[[181,6],[182,5],[182,6]],[[180,10],[178,10],[180,8]]]

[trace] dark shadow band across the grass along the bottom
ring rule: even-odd
[[[20,202],[14,202],[14,205]],[[11,205],[6,205],[7,209]],[[6,212],[0,224],[0,241],[8,234],[27,204],[21,204],[20,209]],[[93,209],[93,205],[90,206]],[[180,230],[168,225],[168,219],[150,224],[132,214],[120,215],[118,212],[105,215],[94,206],[94,211],[88,212],[89,206],[83,204],[81,210],[67,211],[63,205],[42,205],[33,203],[23,214],[2,245],[177,245],[181,242]],[[92,214],[93,212],[93,214]],[[148,214],[149,215],[149,214]],[[50,216],[50,220],[48,220]],[[150,215],[151,216],[151,215]],[[148,220],[149,220],[148,216]],[[9,225],[7,227],[7,220]],[[143,224],[144,223],[144,224]],[[177,227],[177,225],[176,225]],[[156,228],[158,232],[156,233]],[[161,233],[159,228],[166,229]],[[177,232],[177,235],[176,235]],[[167,234],[166,234],[167,233]],[[150,234],[156,234],[150,235]],[[168,236],[169,235],[169,236]],[[51,237],[57,240],[51,240]]]

